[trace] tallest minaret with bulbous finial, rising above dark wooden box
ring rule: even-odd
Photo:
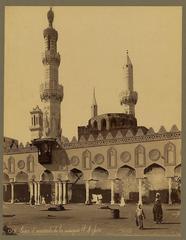
[[[49,26],[43,32],[45,51],[42,58],[45,77],[40,86],[40,97],[43,103],[43,137],[60,138],[63,86],[58,83],[60,55],[57,52],[58,32],[52,26],[54,20],[52,8],[48,11],[47,18]]]

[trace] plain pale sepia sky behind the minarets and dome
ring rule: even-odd
[[[30,111],[42,106],[43,30],[49,7],[5,9],[4,136],[31,139]],[[55,6],[61,55],[62,134],[72,139],[91,117],[93,88],[98,113],[123,112],[122,65],[128,50],[138,92],[138,125],[181,129],[181,7]]]

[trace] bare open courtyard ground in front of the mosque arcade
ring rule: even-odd
[[[18,235],[179,236],[181,231],[180,205],[163,205],[162,224],[153,222],[153,205],[144,205],[143,230],[135,225],[135,204],[110,206],[120,209],[120,219],[113,219],[110,210],[100,209],[98,205],[68,204],[65,211],[47,211],[47,207],[4,204],[4,224],[12,227]]]

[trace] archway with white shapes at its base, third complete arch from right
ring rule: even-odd
[[[97,167],[92,172],[92,181],[90,181],[89,192],[92,194],[101,194],[102,202],[109,203],[111,201],[109,173],[102,167]]]

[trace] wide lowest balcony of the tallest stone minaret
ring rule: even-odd
[[[57,88],[47,88],[45,83],[40,86],[40,97],[41,100],[56,99],[57,101],[63,100],[63,86],[58,85]]]

